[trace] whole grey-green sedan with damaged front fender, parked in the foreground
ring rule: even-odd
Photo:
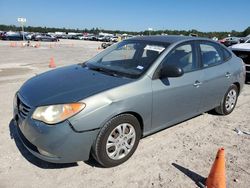
[[[235,108],[242,60],[219,43],[183,36],[135,37],[83,64],[29,79],[14,99],[21,140],[40,159],[129,159],[139,140],[215,109]]]

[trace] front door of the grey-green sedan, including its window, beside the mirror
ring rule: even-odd
[[[201,102],[200,71],[196,47],[186,42],[174,48],[162,64],[177,64],[184,75],[152,80],[152,129],[159,130],[197,114]]]

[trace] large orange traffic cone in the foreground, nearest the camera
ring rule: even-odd
[[[225,151],[220,148],[206,180],[207,188],[226,188]]]

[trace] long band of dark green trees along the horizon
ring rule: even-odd
[[[16,25],[0,25],[0,31],[21,31],[21,27]],[[107,29],[100,29],[98,27],[92,29],[69,29],[69,28],[55,28],[55,27],[34,27],[34,26],[26,26],[25,31],[27,32],[40,32],[40,33],[47,33],[47,32],[75,32],[75,33],[94,33],[98,34],[100,32],[104,33],[115,33],[115,34],[123,34],[127,33],[129,35],[160,35],[160,34],[168,34],[168,35],[189,35],[190,33],[196,34],[201,37],[217,37],[219,39],[227,37],[228,34],[230,36],[236,37],[245,37],[250,34],[250,26],[246,28],[244,31],[224,31],[224,32],[201,32],[197,30],[154,30],[154,31],[121,31],[121,30],[107,30]]]

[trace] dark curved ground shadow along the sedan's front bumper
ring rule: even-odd
[[[34,155],[32,155],[28,149],[23,145],[22,141],[20,140],[18,133],[17,133],[17,128],[14,120],[12,119],[9,123],[9,131],[10,131],[10,138],[15,141],[15,144],[22,154],[22,156],[32,163],[33,165],[43,168],[43,169],[60,169],[60,168],[69,168],[69,167],[75,167],[78,166],[77,163],[65,163],[65,164],[59,164],[59,163],[50,163],[43,161]]]

